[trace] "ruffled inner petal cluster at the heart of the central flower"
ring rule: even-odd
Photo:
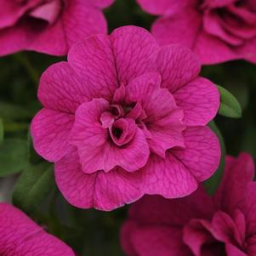
[[[136,77],[118,87],[111,100],[95,98],[78,107],[70,143],[85,173],[117,167],[134,172],[151,153],[165,158],[169,149],[184,146],[183,110],[168,89],[160,88],[159,76]]]

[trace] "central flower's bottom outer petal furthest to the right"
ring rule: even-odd
[[[151,155],[141,171],[145,194],[149,195],[158,194],[167,198],[187,196],[196,191],[198,185],[191,170],[171,153],[167,153],[165,159]]]

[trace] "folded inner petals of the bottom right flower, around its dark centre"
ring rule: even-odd
[[[202,240],[195,242],[198,236]],[[195,255],[199,252],[216,255],[231,255],[236,252],[243,255],[247,252],[245,216],[236,209],[233,216],[222,211],[216,212],[211,221],[191,219],[184,229],[184,241]]]

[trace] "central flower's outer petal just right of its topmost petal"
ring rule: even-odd
[[[181,45],[162,47],[156,60],[156,70],[162,75],[162,87],[171,93],[195,79],[201,65],[189,48]]]

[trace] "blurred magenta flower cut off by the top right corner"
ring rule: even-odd
[[[244,59],[256,63],[254,0],[137,0],[161,15],[152,33],[162,44],[182,43],[202,64]]]

